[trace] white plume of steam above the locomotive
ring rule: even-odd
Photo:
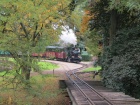
[[[62,31],[62,34],[60,35],[60,39],[63,40],[65,43],[71,43],[76,45],[77,38],[74,34],[74,31],[67,26],[63,28],[64,31]]]

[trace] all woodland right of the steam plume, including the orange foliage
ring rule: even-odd
[[[140,1],[88,0],[79,5],[75,14],[83,9],[81,23],[75,20],[74,26],[99,57],[102,82],[140,98]]]

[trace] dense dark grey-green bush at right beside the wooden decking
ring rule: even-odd
[[[115,43],[106,49],[102,61],[102,78],[107,87],[140,97],[140,27],[127,28],[117,34]]]

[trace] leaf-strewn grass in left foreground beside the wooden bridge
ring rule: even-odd
[[[31,77],[31,88],[0,91],[0,105],[68,105],[66,90],[51,75]]]

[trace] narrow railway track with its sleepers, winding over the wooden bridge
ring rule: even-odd
[[[70,70],[66,72],[69,80],[75,85],[78,91],[82,94],[79,97],[84,97],[86,105],[114,105],[108,98],[102,96],[98,91],[93,87],[88,85],[85,81],[80,79],[76,72],[86,68],[87,65],[82,64],[81,68]]]

